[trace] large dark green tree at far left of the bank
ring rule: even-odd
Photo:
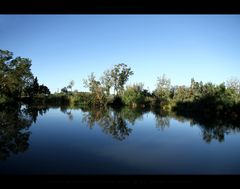
[[[32,61],[28,58],[13,58],[13,53],[0,50],[0,103],[50,94],[45,85],[38,84],[31,71]]]

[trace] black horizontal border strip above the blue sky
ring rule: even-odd
[[[0,14],[238,14],[238,0],[6,0]]]

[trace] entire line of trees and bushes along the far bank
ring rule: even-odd
[[[157,78],[152,92],[142,83],[126,86],[133,71],[126,64],[117,64],[103,72],[97,79],[91,73],[83,81],[89,92],[72,90],[74,81],[60,92],[50,94],[47,86],[39,85],[31,72],[31,60],[13,58],[13,53],[0,50],[0,104],[35,103],[45,105],[120,107],[150,107],[164,111],[173,110],[186,116],[203,114],[211,117],[240,117],[240,81],[230,79],[215,85],[196,82],[190,86],[172,86],[165,75]],[[112,92],[112,93],[111,93]]]

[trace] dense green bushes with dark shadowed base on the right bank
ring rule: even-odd
[[[239,95],[236,90],[226,88],[224,83],[198,84],[192,80],[190,88],[184,88],[181,93],[177,92],[174,95],[176,104],[173,107],[177,112],[200,113],[210,117],[235,117],[234,119],[240,115],[236,108],[240,103]]]

